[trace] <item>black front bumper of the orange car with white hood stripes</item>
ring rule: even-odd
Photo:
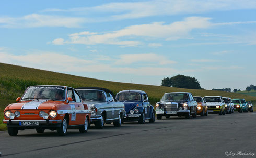
[[[34,126],[21,126],[20,121],[38,121],[39,125]],[[54,128],[61,127],[62,120],[3,120],[7,127],[19,127],[22,129],[33,129],[33,128]]]

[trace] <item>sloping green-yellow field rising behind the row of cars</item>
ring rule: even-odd
[[[65,85],[73,88],[95,86],[108,88],[114,94],[124,89],[139,89],[146,91],[150,103],[153,105],[161,99],[164,93],[174,91],[188,91],[194,96],[217,95],[230,98],[245,98],[247,101],[256,103],[255,96],[241,93],[111,82],[0,63],[0,111],[3,112],[9,103],[15,102],[16,98],[20,97],[24,90],[32,85]],[[3,113],[0,113],[0,115],[2,119]],[[2,121],[0,121],[0,130],[2,128]]]

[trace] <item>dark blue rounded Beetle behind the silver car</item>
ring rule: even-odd
[[[123,90],[115,98],[124,103],[126,118],[123,121],[138,121],[139,124],[144,124],[148,119],[149,122],[155,122],[155,110],[145,91]]]

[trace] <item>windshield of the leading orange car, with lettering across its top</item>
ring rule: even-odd
[[[66,99],[65,88],[60,86],[29,87],[21,100],[60,100]]]

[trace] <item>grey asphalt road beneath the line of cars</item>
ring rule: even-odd
[[[18,136],[1,131],[0,152],[2,157],[256,157],[255,120],[256,113],[235,112],[92,126],[86,134],[69,129],[64,137],[51,130],[24,130]]]

